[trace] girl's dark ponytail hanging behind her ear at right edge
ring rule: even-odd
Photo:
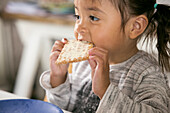
[[[150,19],[152,30],[147,36],[157,37],[158,61],[163,69],[170,71],[170,6],[156,5],[156,11]]]

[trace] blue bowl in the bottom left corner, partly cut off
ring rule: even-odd
[[[56,105],[34,99],[0,100],[0,113],[63,113]]]

